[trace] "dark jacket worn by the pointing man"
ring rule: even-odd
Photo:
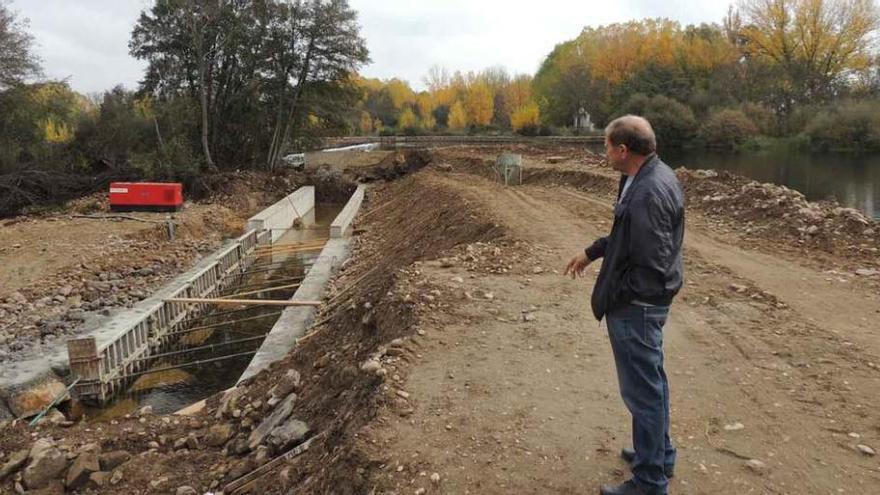
[[[667,306],[681,289],[684,192],[675,172],[652,155],[620,199],[625,183],[611,233],[586,249],[590,260],[605,258],[593,288],[597,320],[632,301]]]

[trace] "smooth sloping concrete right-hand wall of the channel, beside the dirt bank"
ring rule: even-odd
[[[320,300],[324,295],[330,278],[351,255],[351,225],[360,210],[365,193],[366,186],[358,186],[342,212],[333,221],[330,226],[330,240],[324,245],[324,249],[291,300]],[[239,383],[287,355],[296,345],[297,339],[305,335],[306,330],[314,323],[317,311],[313,306],[294,306],[284,310],[241,375]]]

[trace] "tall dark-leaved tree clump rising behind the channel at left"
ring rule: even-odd
[[[262,155],[271,169],[292,133],[342,125],[368,60],[347,0],[157,0],[129,46],[148,62],[143,92],[199,101],[209,166]]]

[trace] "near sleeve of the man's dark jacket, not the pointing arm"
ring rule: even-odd
[[[626,251],[629,269],[623,289],[647,297],[664,286],[672,263],[676,212],[657,195],[633,201],[629,208]]]

